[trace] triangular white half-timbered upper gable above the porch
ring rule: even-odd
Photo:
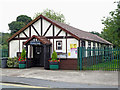
[[[28,23],[28,25],[23,27],[21,30],[16,32],[11,38],[8,39],[8,41],[18,39],[26,40],[33,35],[46,36],[51,38],[63,38],[66,36],[66,31],[55,25],[54,22],[50,22],[44,16],[40,15],[35,20]],[[68,36],[74,37],[70,34]]]

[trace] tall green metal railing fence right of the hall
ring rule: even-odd
[[[120,70],[120,48],[78,47],[78,69]]]

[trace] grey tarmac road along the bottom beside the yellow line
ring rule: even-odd
[[[7,76],[2,77],[2,82],[3,83],[12,82],[14,84],[24,84],[32,87],[35,86],[35,87],[48,87],[48,88],[118,88],[118,86],[78,84],[78,83],[42,80],[42,79],[35,79],[35,78],[7,77]]]

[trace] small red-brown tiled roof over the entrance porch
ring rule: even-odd
[[[38,39],[41,43],[46,44],[46,45],[52,44],[47,38],[45,38],[45,37],[43,37],[43,36],[33,35],[31,38],[29,38],[29,39],[24,43],[24,45],[27,44],[29,41],[31,41],[33,38]]]

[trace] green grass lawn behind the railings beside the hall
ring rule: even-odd
[[[106,70],[106,71],[118,71],[120,70],[120,60],[106,61],[103,63],[95,64],[89,67],[83,67],[83,70]]]

